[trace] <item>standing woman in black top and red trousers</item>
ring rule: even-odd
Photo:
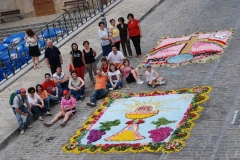
[[[86,66],[83,53],[78,50],[77,43],[72,44],[72,51],[69,53],[70,67],[69,71],[75,70],[77,75],[84,80],[84,69]]]

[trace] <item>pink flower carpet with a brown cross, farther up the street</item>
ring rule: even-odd
[[[145,56],[139,68],[147,63],[155,67],[174,67],[213,62],[224,52],[233,33],[233,30],[229,29],[213,33],[196,32],[182,37],[163,37]]]

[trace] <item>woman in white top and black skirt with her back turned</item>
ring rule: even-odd
[[[41,68],[39,65],[39,56],[41,53],[37,44],[37,35],[31,29],[27,29],[26,34],[24,39],[29,46],[29,55],[32,57],[34,69]]]

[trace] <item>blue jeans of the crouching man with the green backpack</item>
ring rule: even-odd
[[[28,109],[26,106],[22,106],[21,108],[19,108],[20,111],[22,111],[23,113],[28,113],[28,116],[27,116],[27,119],[26,121],[23,123],[23,119],[21,117],[21,114],[19,114],[18,112],[16,112],[15,109],[13,109],[13,112],[15,113],[16,117],[17,117],[17,120],[18,120],[18,124],[20,126],[20,130],[24,130],[25,129],[25,126],[28,126],[30,124],[30,121],[31,121],[31,117],[32,117],[32,114],[28,112]]]

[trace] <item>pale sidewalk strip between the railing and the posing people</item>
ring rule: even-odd
[[[106,13],[106,18],[109,21],[112,18],[118,19],[120,16],[126,17],[129,11],[133,12],[136,16],[136,18],[143,17],[151,8],[153,8],[160,0],[153,0],[151,3],[146,2],[144,0],[139,1],[139,4],[141,6],[145,6],[145,8],[141,11],[138,10],[138,6],[134,4],[134,0],[131,1],[123,1],[120,4],[117,5],[117,7],[110,10],[108,13]],[[127,7],[126,7],[127,6]],[[97,30],[98,22],[92,23],[89,27],[84,29],[82,32],[80,32],[78,35],[76,35],[74,38],[72,38],[70,41],[68,41],[66,44],[64,44],[60,51],[63,56],[63,71],[65,73],[68,73],[68,65],[69,65],[69,52],[71,50],[71,44],[73,42],[76,42],[79,45],[79,49],[83,49],[82,42],[84,40],[88,40],[90,42],[90,45],[92,48],[94,48],[97,51],[97,54],[101,54],[101,46],[100,41],[98,38]],[[108,22],[108,25],[109,22]],[[1,91],[0,97],[1,97],[1,110],[0,113],[0,141],[4,140],[6,136],[9,136],[13,133],[14,130],[18,127],[16,117],[12,113],[12,110],[8,104],[9,95],[15,91],[17,88],[25,87],[28,88],[30,86],[36,86],[36,84],[41,84],[44,81],[44,74],[47,72],[50,72],[49,68],[45,65],[45,61],[41,63],[42,68],[41,69],[31,69],[29,72],[27,72],[25,75],[20,77],[18,80],[16,80],[14,83],[9,85],[6,89]],[[88,76],[86,76],[88,78]],[[88,79],[86,80],[88,82]],[[90,90],[91,88],[89,88]]]

